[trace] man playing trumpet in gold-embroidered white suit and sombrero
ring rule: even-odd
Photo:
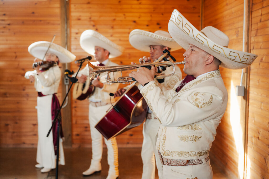
[[[228,49],[222,31],[211,26],[199,31],[176,9],[168,31],[186,50],[187,76],[165,92],[153,80],[155,67],[138,68],[129,76],[144,84],[140,93],[161,123],[156,148],[164,178],[212,179],[209,151],[228,101],[219,67],[242,69],[257,56]],[[249,61],[242,62],[244,56]]]

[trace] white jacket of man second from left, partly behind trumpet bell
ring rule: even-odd
[[[91,62],[91,64],[97,66],[97,64],[99,64],[99,62]],[[116,63],[108,60],[105,63],[105,66],[118,66],[118,64],[116,64]],[[82,74],[83,75],[86,75],[86,76],[89,76],[90,75],[89,74],[88,64],[86,65],[86,67],[84,67],[78,73],[78,75],[82,75]],[[119,72],[115,72],[114,75],[115,75],[115,79],[117,79],[120,76],[120,73]],[[106,79],[105,79],[106,76],[107,76],[107,72],[101,73],[99,75],[100,82],[102,82],[104,84],[104,86],[102,88],[95,87],[93,94],[89,97],[89,101],[92,101],[92,102],[102,101],[104,103],[110,103],[110,97],[111,96],[109,96],[109,93],[115,93],[115,91],[119,87],[119,83],[112,83],[111,85],[109,85],[106,82]],[[110,73],[110,78],[111,78],[111,80],[114,79],[113,73]],[[115,98],[114,97],[111,97],[111,102],[112,103],[115,102]]]

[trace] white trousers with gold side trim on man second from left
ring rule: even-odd
[[[91,130],[91,146],[92,146],[92,160],[94,163],[100,162],[103,153],[103,136],[95,129],[95,125],[103,118],[106,114],[107,109],[111,105],[104,105],[94,107],[89,104],[89,123]],[[107,145],[107,161],[109,165],[108,174],[119,175],[119,162],[118,162],[118,145],[116,138],[107,140],[104,138],[105,144]]]

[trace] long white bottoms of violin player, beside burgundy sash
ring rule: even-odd
[[[38,142],[36,161],[45,168],[54,169],[56,167],[56,155],[54,153],[52,131],[47,137],[52,125],[51,119],[52,94],[37,97],[37,123]],[[59,142],[59,164],[65,165],[62,139]]]

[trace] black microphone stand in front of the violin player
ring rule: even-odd
[[[80,70],[80,68],[82,67],[83,62],[84,62],[84,60],[79,62],[79,63],[80,63],[80,65],[79,65],[79,70]],[[78,74],[79,70],[77,71],[77,74]],[[74,74],[74,72],[73,72],[73,71],[70,72],[69,70],[65,70],[65,71],[66,71],[66,72],[65,72],[65,75],[70,79],[70,81],[71,81],[72,83],[71,83],[71,85],[70,85],[70,87],[69,87],[69,89],[68,89],[68,92],[67,92],[66,95],[65,95],[65,98],[63,99],[63,102],[62,102],[61,107],[60,107],[59,109],[57,109],[57,114],[56,114],[55,118],[53,119],[51,128],[49,129],[48,134],[47,134],[47,137],[48,137],[48,136],[49,136],[49,133],[50,133],[51,130],[52,130],[52,127],[55,125],[56,119],[58,119],[58,120],[57,120],[57,121],[58,121],[58,126],[57,126],[57,151],[56,151],[57,157],[56,157],[56,173],[55,173],[55,178],[56,178],[56,179],[58,179],[58,166],[59,166],[59,141],[60,141],[60,130],[61,130],[61,125],[60,125],[60,124],[61,124],[61,116],[59,116],[59,114],[60,114],[60,112],[61,112],[62,106],[63,106],[63,104],[64,104],[64,102],[65,102],[65,100],[66,100],[66,97],[68,96],[68,93],[70,92],[70,89],[71,89],[73,83],[76,83],[76,82],[77,82],[77,79],[76,79],[77,74],[76,74],[75,77],[69,77],[68,75],[72,75],[72,74]],[[58,116],[59,116],[59,117],[58,117]]]

